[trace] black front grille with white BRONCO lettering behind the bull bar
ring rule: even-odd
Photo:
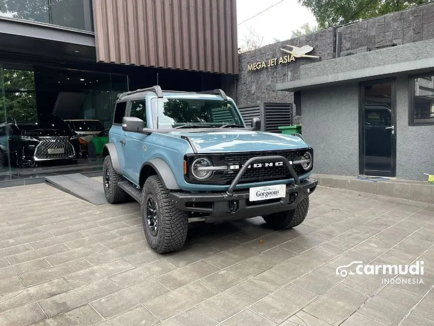
[[[197,155],[200,157],[208,157],[214,166],[230,166],[239,165],[241,166],[252,157],[262,157],[262,156],[283,156],[289,161],[295,161],[301,159],[301,157],[306,153],[306,151],[311,151],[311,149],[301,149],[301,150],[283,150],[283,151],[261,151],[261,152],[242,152],[242,153],[225,153],[225,154],[211,154],[211,155]],[[188,158],[188,166],[191,166],[192,161],[197,156]],[[295,173],[298,176],[307,173],[300,164],[293,165]],[[191,175],[188,176],[188,181],[193,183],[218,183],[218,184],[230,184],[235,176],[238,174],[239,169],[236,170],[225,170],[225,171],[214,171],[211,178],[204,181],[197,181]],[[249,168],[243,174],[240,183],[248,182],[261,182],[261,181],[271,181],[279,179],[291,179],[292,176],[289,173],[288,168],[283,166],[268,166],[259,168]]]

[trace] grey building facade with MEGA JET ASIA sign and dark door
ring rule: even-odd
[[[316,173],[426,179],[434,173],[433,26],[430,3],[241,54],[236,99],[294,103]]]

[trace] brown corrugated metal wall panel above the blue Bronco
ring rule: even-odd
[[[238,73],[236,0],[93,0],[98,62]]]

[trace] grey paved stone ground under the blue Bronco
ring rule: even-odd
[[[302,225],[192,223],[146,244],[136,203],[45,184],[0,190],[0,325],[434,325],[434,206],[322,188]],[[424,261],[423,284],[336,267]]]

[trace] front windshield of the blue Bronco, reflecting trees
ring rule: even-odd
[[[161,129],[188,126],[221,127],[237,125],[244,127],[235,106],[225,100],[158,99],[154,103],[154,126]]]

